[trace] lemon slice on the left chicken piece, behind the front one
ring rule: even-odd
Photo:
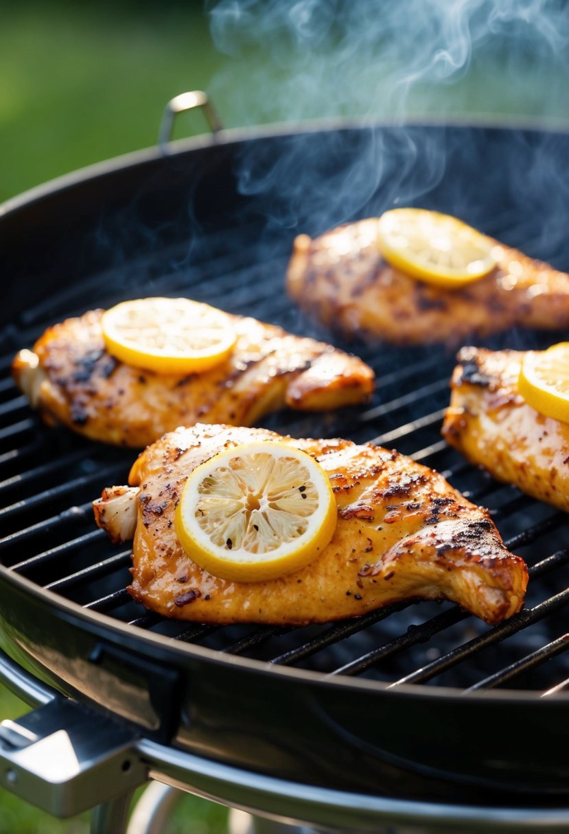
[[[200,373],[226,359],[237,339],[222,310],[189,299],[134,299],[103,313],[108,352],[162,374]]]

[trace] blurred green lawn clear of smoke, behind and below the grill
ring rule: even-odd
[[[0,25],[0,202],[156,142],[169,98],[208,88],[223,58],[201,3],[11,3]],[[203,133],[196,113],[177,131]],[[28,707],[0,686],[0,719]],[[184,796],[168,834],[220,834],[226,811]],[[0,834],[85,834],[0,789]],[[164,832],[166,834],[166,832]]]

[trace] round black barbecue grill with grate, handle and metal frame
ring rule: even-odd
[[[168,143],[172,114],[206,102],[174,99],[159,148],[0,208],[11,282],[0,331],[0,671],[35,707],[2,724],[2,784],[58,816],[96,806],[98,834],[123,830],[131,791],[148,779],[320,829],[565,830],[566,516],[441,440],[451,349],[342,344],[290,304],[284,269],[297,232],[396,200],[569,267],[569,135],[424,123],[245,133],[220,130],[210,110],[212,136]],[[42,425],[9,367],[48,324],[145,294],[185,294],[360,354],[377,374],[365,408],[281,412],[264,425],[373,440],[444,473],[526,559],[526,607],[495,627],[451,603],[411,601],[277,628],[193,625],[136,605],[130,551],[95,527],[90,505],[126,482],[133,451]]]

